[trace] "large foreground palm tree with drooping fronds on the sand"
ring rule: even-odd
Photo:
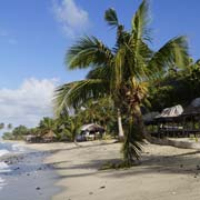
[[[56,109],[78,107],[90,99],[110,97],[118,116],[127,116],[124,130],[124,161],[139,158],[143,139],[140,106],[148,94],[150,79],[163,74],[171,66],[183,67],[188,62],[184,37],[169,40],[157,52],[149,48],[149,4],[143,0],[131,21],[131,30],[124,30],[113,9],[104,19],[117,29],[116,46],[110,49],[96,37],[83,37],[67,52],[69,69],[91,68],[86,80],[60,86],[56,91]],[[119,120],[120,122],[120,120]],[[133,140],[134,139],[134,140]]]

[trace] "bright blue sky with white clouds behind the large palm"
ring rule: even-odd
[[[64,54],[81,36],[96,36],[109,47],[114,30],[103,20],[114,8],[130,29],[141,0],[0,0],[0,122],[34,127],[52,116],[57,86],[83,79],[88,70],[67,70]],[[200,58],[200,1],[151,0],[152,48],[184,34],[190,54]]]

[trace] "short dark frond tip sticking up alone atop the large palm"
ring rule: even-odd
[[[107,23],[113,28],[119,26],[118,22],[118,16],[116,13],[116,10],[110,8],[108,10],[106,10],[104,12],[104,20],[107,21]]]

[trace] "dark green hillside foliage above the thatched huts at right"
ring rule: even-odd
[[[161,111],[176,104],[187,107],[200,97],[200,66],[198,61],[179,71],[168,71],[158,82],[150,84],[152,111]]]

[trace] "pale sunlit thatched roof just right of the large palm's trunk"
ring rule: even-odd
[[[162,112],[156,117],[156,119],[179,117],[182,114],[182,112],[183,108],[180,104],[177,104],[174,107],[163,109]]]

